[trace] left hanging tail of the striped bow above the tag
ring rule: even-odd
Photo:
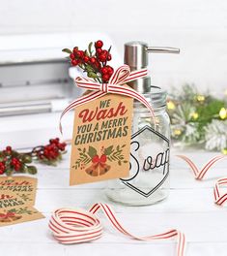
[[[72,109],[74,109],[75,107],[78,107],[82,104],[94,101],[96,99],[98,99],[99,97],[105,95],[105,92],[102,91],[94,91],[91,92],[88,95],[82,96],[78,99],[75,99],[74,101],[71,102],[71,104],[62,112],[61,116],[60,116],[60,121],[59,121],[59,130],[61,132],[61,134],[63,134],[63,130],[62,130],[62,118],[63,116],[67,113],[70,112]]]

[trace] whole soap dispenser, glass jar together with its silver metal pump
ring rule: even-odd
[[[131,71],[148,67],[148,53],[179,53],[179,48],[151,48],[143,42],[125,44],[125,64]],[[128,82],[143,94],[155,112],[134,101],[130,142],[129,176],[108,181],[107,197],[128,206],[145,206],[169,194],[170,121],[166,112],[166,91],[151,84],[151,77]]]

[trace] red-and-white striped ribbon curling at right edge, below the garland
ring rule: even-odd
[[[214,163],[217,161],[226,158],[226,155],[217,155],[213,157],[205,166],[202,168],[202,170],[199,170],[196,165],[186,156],[184,155],[177,155],[178,157],[182,158],[191,168],[194,176],[198,180],[202,180],[204,176],[207,174],[209,169],[213,166]],[[220,186],[226,186],[227,185],[227,177],[219,178],[214,185],[213,188],[213,196],[214,196],[214,203],[218,206],[222,206],[225,201],[227,200],[227,193],[221,194],[220,193]]]

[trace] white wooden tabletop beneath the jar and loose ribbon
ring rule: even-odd
[[[217,153],[187,151],[202,167]],[[149,207],[113,205],[128,231],[136,235],[152,235],[171,228],[184,232],[187,256],[227,255],[227,206],[213,204],[213,184],[227,176],[227,159],[217,162],[204,181],[197,181],[182,159],[171,157],[171,192],[167,200]],[[104,226],[100,240],[63,245],[54,240],[47,224],[55,208],[89,208],[97,202],[108,202],[103,195],[105,182],[69,186],[69,154],[57,167],[39,166],[36,208],[45,219],[0,228],[1,256],[132,256],[176,255],[176,241],[144,242],[130,240],[114,231],[102,214]],[[149,223],[149,224],[148,224]]]

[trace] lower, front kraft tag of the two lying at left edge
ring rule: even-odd
[[[43,217],[41,212],[27,205],[27,202],[14,192],[0,192],[0,227]]]

